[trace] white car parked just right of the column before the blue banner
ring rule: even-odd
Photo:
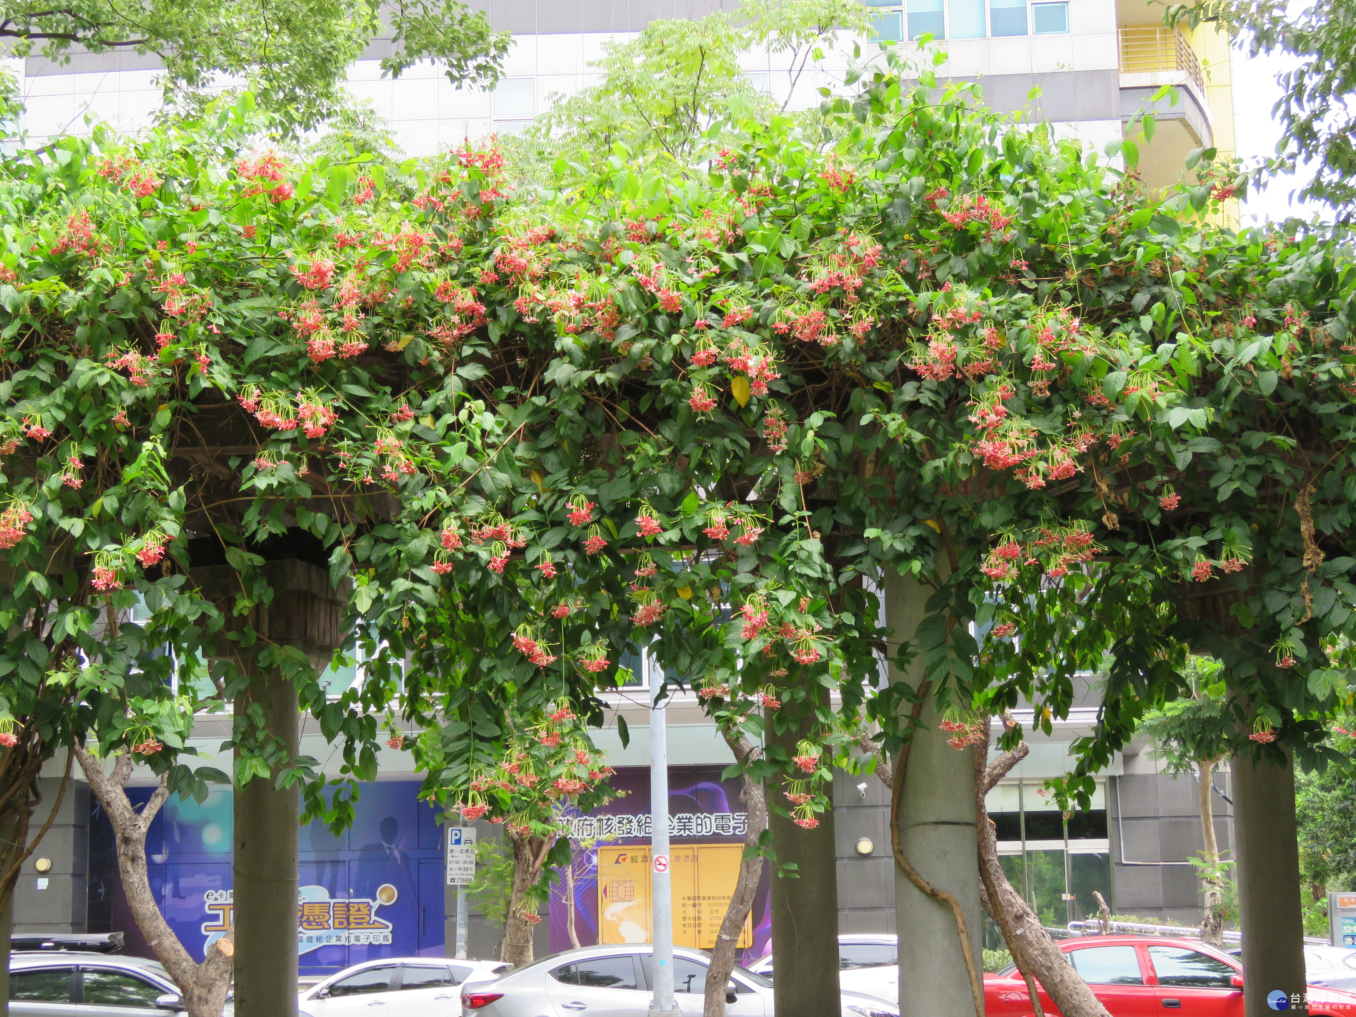
[[[384,957],[354,964],[297,995],[312,1017],[461,1017],[461,986],[492,982],[498,960]]]

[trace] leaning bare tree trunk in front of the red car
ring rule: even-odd
[[[1003,753],[987,762],[989,738],[974,749],[975,766],[975,812],[979,819],[979,872],[983,879],[980,899],[984,910],[998,925],[1003,942],[1017,963],[1017,970],[1026,979],[1036,1017],[1041,1017],[1043,1003],[1054,1001],[1063,1017],[1111,1017],[1088,983],[1078,976],[1074,965],[1066,960],[1063,951],[1055,944],[1031,910],[1021,894],[1013,890],[998,862],[998,838],[989,819],[984,796],[1002,777],[1022,759],[1031,749],[1022,742],[1017,749]],[[1036,986],[1036,982],[1040,986]],[[1041,999],[1039,989],[1048,997]]]

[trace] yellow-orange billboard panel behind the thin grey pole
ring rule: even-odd
[[[742,843],[682,845],[670,849],[674,945],[712,949],[739,880]],[[650,848],[598,849],[598,942],[650,942]],[[753,919],[744,918],[739,949],[753,946]]]

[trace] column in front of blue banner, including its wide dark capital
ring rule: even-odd
[[[233,568],[195,568],[193,579],[224,612],[228,631],[248,626],[258,635],[251,650],[232,658],[251,679],[236,697],[236,717],[258,705],[264,730],[296,757],[296,686],[277,669],[260,667],[254,654],[270,644],[292,645],[323,667],[343,639],[344,593],[331,589],[327,570],[305,561],[270,561],[262,571],[273,601],[244,616],[233,613],[243,589]],[[221,639],[218,652],[228,652],[228,645]],[[298,799],[296,786],[278,789],[274,780],[259,777],[235,793],[235,993],[236,1013],[250,1017],[297,1014]]]

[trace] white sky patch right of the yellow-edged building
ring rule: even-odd
[[[1271,115],[1280,98],[1276,75],[1292,66],[1294,60],[1290,56],[1249,57],[1246,49],[1234,50],[1234,136],[1238,156],[1248,165],[1276,152],[1280,125]],[[1242,207],[1242,225],[1253,226],[1268,218],[1284,220],[1288,216],[1311,218],[1314,212],[1322,214],[1322,206],[1291,201],[1291,193],[1299,190],[1302,183],[1299,175],[1283,176],[1260,191],[1250,188]]]

